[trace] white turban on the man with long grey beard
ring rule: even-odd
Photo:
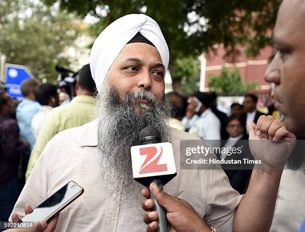
[[[123,47],[140,32],[158,50],[165,73],[169,51],[159,25],[145,14],[128,14],[107,26],[95,40],[90,53],[90,69],[98,91]]]

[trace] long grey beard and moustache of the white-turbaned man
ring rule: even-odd
[[[121,201],[129,203],[129,206],[139,206],[143,186],[133,180],[130,148],[139,145],[139,134],[147,126],[160,132],[162,142],[171,140],[167,124],[170,102],[167,97],[159,100],[144,90],[129,93],[122,99],[118,90],[107,83],[101,93],[97,100],[97,113],[98,161],[103,189],[110,196],[121,196]],[[150,100],[152,105],[135,103],[136,99]],[[139,113],[135,108],[143,112]]]

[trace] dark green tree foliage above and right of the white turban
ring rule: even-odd
[[[104,26],[94,27],[95,37],[123,15],[146,13],[160,25],[170,50],[171,62],[197,56],[214,44],[232,52],[236,44],[248,45],[258,54],[269,43],[281,0],[45,0],[85,17],[93,15]],[[255,42],[253,40],[258,40]],[[252,40],[251,43],[248,43]]]

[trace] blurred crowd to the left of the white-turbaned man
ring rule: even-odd
[[[71,86],[75,96],[67,104],[62,101],[60,107],[59,86],[37,79],[21,83],[24,98],[17,105],[4,89],[0,91],[0,221],[8,221],[25,177],[48,141],[62,130],[95,118],[96,86],[89,64],[77,73],[75,88]]]

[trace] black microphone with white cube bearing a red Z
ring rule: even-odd
[[[154,182],[163,190],[163,185],[177,175],[171,143],[161,143],[160,132],[149,126],[140,132],[139,144],[131,147],[134,180],[147,188]],[[167,232],[166,211],[152,193],[150,198],[153,201],[152,211],[158,213],[157,232]]]

